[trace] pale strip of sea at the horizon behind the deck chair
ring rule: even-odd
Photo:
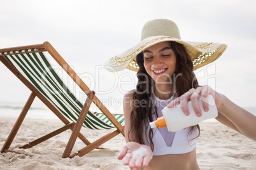
[[[0,119],[1,118],[9,118],[9,119],[17,119],[18,115],[22,111],[24,107],[24,103],[18,102],[6,102],[0,101]],[[256,115],[256,107],[243,107],[248,112]],[[59,119],[55,114],[52,113],[45,105],[32,105],[27,112],[25,119]],[[217,122],[215,119],[208,119],[203,122]]]

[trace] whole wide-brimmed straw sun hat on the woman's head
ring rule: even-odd
[[[141,30],[141,42],[120,55],[113,56],[106,63],[106,69],[114,72],[124,69],[139,70],[136,56],[144,49],[163,41],[183,44],[193,62],[193,70],[215,61],[227,48],[226,44],[214,42],[189,42],[180,39],[180,31],[171,20],[155,19],[147,22]]]

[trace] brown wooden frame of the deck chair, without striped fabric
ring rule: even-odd
[[[87,100],[85,101],[82,112],[80,113],[77,122],[70,122],[64,115],[62,115],[57,108],[55,108],[50,101],[48,101],[45,96],[43,96],[38,89],[34,87],[31,82],[29,82],[20,72],[4,57],[4,55],[1,55],[1,52],[6,51],[18,51],[18,50],[24,50],[24,49],[35,49],[36,52],[43,52],[47,51],[53,59],[59,63],[60,67],[62,67],[63,70],[75,81],[75,83],[82,89],[82,91],[87,95]],[[21,53],[31,53],[31,52],[21,52]],[[60,121],[64,122],[65,126],[62,128],[59,128],[52,133],[46,134],[45,136],[34,140],[30,142],[27,145],[24,145],[20,148],[31,148],[34,145],[37,145],[38,143],[41,143],[42,141],[48,140],[49,138],[52,138],[53,136],[62,133],[63,131],[66,131],[67,129],[71,129],[72,133],[69,138],[68,144],[66,145],[66,148],[64,150],[64,153],[62,155],[62,158],[65,157],[75,157],[75,155],[83,156],[87,153],[89,153],[91,150],[94,150],[94,148],[98,148],[100,145],[105,143],[106,141],[110,140],[111,138],[117,136],[117,134],[122,134],[124,136],[124,126],[122,126],[115,117],[110,113],[110,111],[103,105],[103,103],[97,98],[94,91],[91,91],[89,87],[85,84],[85,82],[80,79],[80,77],[76,74],[76,72],[68,65],[68,63],[59,55],[59,53],[53,48],[53,46],[49,42],[44,42],[43,44],[35,44],[31,46],[20,46],[16,48],[4,48],[0,49],[0,60],[1,62],[9,69],[13,74],[15,74],[20,81],[22,81],[27,88],[31,90],[31,95],[29,96],[27,102],[25,103],[24,108],[22,109],[22,112],[20,113],[17,121],[15,122],[13,128],[11,129],[11,132],[6,139],[3,148],[1,149],[1,152],[15,152],[14,150],[9,150],[11,143],[13,142],[13,139],[15,138],[18,129],[20,128],[22,122],[25,119],[25,115],[27,114],[29,108],[32,105],[32,102],[34,101],[34,98],[37,96],[39,100],[41,100],[52,112],[59,117]],[[82,128],[83,120],[85,119],[87,112],[89,111],[89,107],[91,103],[94,103],[101,112],[106,115],[106,117],[113,123],[113,125],[117,128],[115,131],[108,133],[104,135],[103,137],[99,138],[98,140],[90,143],[85,136],[83,136],[82,133],[80,133],[80,129]],[[73,149],[73,146],[75,145],[76,138],[80,138],[80,140],[87,145],[86,147],[82,148],[75,154],[71,154],[71,151]],[[18,154],[21,154],[20,152],[16,152]],[[24,154],[24,153],[22,153]],[[29,155],[29,154],[27,154]]]

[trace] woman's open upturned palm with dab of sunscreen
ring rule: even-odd
[[[150,147],[136,142],[127,143],[118,155],[118,159],[123,160],[123,164],[131,169],[147,167],[152,157],[153,152]]]

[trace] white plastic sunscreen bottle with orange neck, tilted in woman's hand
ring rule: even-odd
[[[208,112],[205,112],[203,109],[202,100],[199,100],[199,107],[202,110],[201,117],[198,117],[196,115],[194,108],[192,107],[191,101],[188,101],[188,110],[190,113],[189,115],[185,115],[181,110],[181,107],[178,107],[178,106],[172,107],[172,108],[165,107],[162,110],[163,116],[157,118],[157,120],[154,122],[150,122],[150,126],[151,128],[157,128],[157,127],[162,128],[164,126],[167,126],[168,131],[176,132],[190,126],[194,126],[206,119],[217,117],[218,110],[215,105],[215,101],[213,100],[213,96],[211,95],[208,95],[208,104],[209,104],[209,110]]]

